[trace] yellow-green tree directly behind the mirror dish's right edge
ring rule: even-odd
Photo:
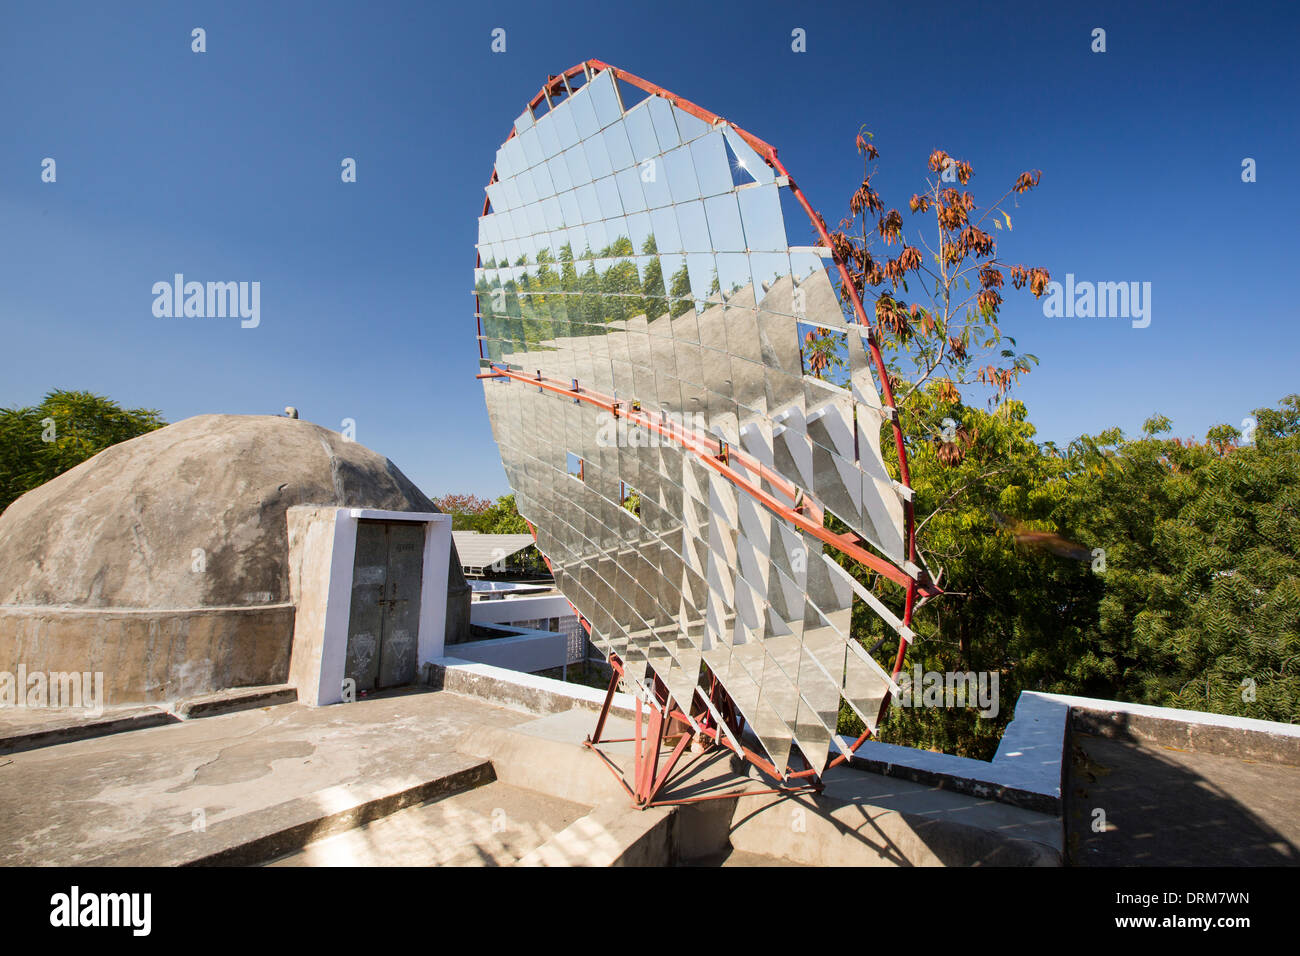
[[[1082,561],[1088,551],[1050,519],[1062,463],[1034,441],[1023,403],[989,412],[945,401],[945,392],[919,392],[909,416],[918,549],[945,593],[916,611],[907,669],[996,671],[1000,711],[892,708],[880,739],[987,760],[1022,689],[1083,691],[1076,665],[1101,583]],[[890,444],[883,450],[894,457]],[[838,559],[902,614],[896,585]],[[892,663],[897,635],[866,605],[854,605],[853,632]],[[861,731],[848,709],[841,724]]]

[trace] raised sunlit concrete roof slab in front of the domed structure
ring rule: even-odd
[[[465,730],[526,719],[454,693],[408,693],[285,704],[0,757],[0,865],[200,858],[259,829],[484,767],[455,749]]]

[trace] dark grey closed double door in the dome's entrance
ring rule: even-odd
[[[358,522],[343,671],[358,693],[416,680],[424,538],[424,524]]]

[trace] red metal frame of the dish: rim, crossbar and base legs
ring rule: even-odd
[[[880,354],[880,346],[875,339],[875,334],[871,332],[871,323],[867,317],[866,308],[862,303],[862,297],[858,294],[858,290],[853,285],[853,281],[849,276],[848,264],[840,255],[835,252],[835,247],[831,243],[831,237],[827,232],[826,222],[812,208],[811,203],[809,203],[807,196],[803,195],[803,191],[800,190],[800,187],[794,183],[794,179],[790,177],[789,170],[786,170],[785,165],[780,161],[780,159],[777,159],[775,147],[759,139],[753,133],[741,129],[736,124],[728,122],[716,113],[712,113],[705,109],[703,107],[696,105],[690,100],[682,99],[681,96],[677,96],[676,94],[672,94],[668,90],[664,90],[663,87],[656,86],[655,83],[651,83],[647,79],[642,79],[641,77],[633,73],[628,73],[627,70],[619,69],[618,66],[603,62],[601,60],[586,60],[584,62],[577,64],[576,66],[571,66],[563,73],[547,77],[547,81],[542,86],[542,88],[537,92],[536,96],[533,96],[532,100],[529,100],[528,107],[529,109],[534,109],[542,103],[542,100],[550,103],[550,98],[552,95],[559,95],[562,92],[564,94],[571,92],[568,85],[568,79],[571,77],[576,77],[577,74],[581,73],[588,79],[588,82],[590,82],[590,79],[597,73],[604,70],[611,72],[616,79],[620,79],[625,83],[630,83],[632,86],[636,86],[637,88],[645,91],[651,96],[660,96],[668,100],[679,109],[690,113],[692,116],[703,120],[710,125],[727,124],[732,130],[734,130],[737,135],[740,135],[746,143],[749,143],[749,146],[751,146],[754,151],[758,152],[759,156],[762,156],[763,161],[772,168],[772,170],[776,173],[777,177],[781,177],[785,181],[786,187],[790,190],[794,198],[798,199],[800,206],[803,207],[805,213],[807,213],[809,221],[812,222],[814,228],[818,230],[818,234],[822,237],[822,242],[828,250],[829,258],[835,261],[835,265],[838,269],[840,287],[844,291],[844,294],[848,295],[858,323],[867,329],[866,334],[867,349],[871,354],[872,363],[875,364],[876,368],[876,375],[880,380],[881,398],[885,406],[893,408],[894,397],[893,397],[893,385],[889,380],[889,372],[885,368],[884,356]],[[510,135],[507,135],[506,139],[508,140],[514,135],[515,135],[515,129],[511,127]],[[489,185],[491,185],[493,182],[497,182],[495,169],[493,169]],[[490,209],[491,209],[490,200],[485,196],[482,215],[486,216]],[[482,265],[482,259],[481,256],[477,256],[476,268],[481,265]],[[478,337],[477,337],[478,356],[480,359],[482,359],[485,358],[482,347],[484,336],[482,336],[481,308],[478,307],[478,304],[480,304],[478,295],[476,293],[474,313],[476,313],[476,321],[478,324]],[[861,564],[876,571],[885,579],[905,588],[906,598],[905,598],[904,617],[902,617],[904,627],[911,626],[913,610],[915,609],[918,594],[923,597],[932,597],[935,594],[941,593],[940,589],[928,580],[928,576],[926,575],[924,570],[918,568],[915,512],[913,509],[913,503],[907,497],[904,498],[904,524],[907,540],[907,563],[913,568],[918,568],[916,578],[913,578],[902,568],[898,568],[893,563],[867,550],[866,542],[863,542],[862,538],[859,538],[857,535],[852,533],[835,535],[833,532],[826,529],[823,527],[824,515],[820,509],[818,509],[814,503],[809,502],[806,498],[803,501],[800,501],[798,505],[796,505],[797,501],[796,496],[798,493],[798,489],[790,481],[785,480],[780,475],[776,475],[774,471],[764,467],[760,462],[755,460],[753,457],[748,455],[740,449],[725,446],[712,436],[702,436],[696,432],[690,432],[681,425],[675,425],[673,423],[663,420],[655,420],[653,416],[634,408],[630,403],[615,399],[611,395],[604,395],[598,392],[592,392],[590,389],[582,386],[581,382],[572,382],[572,384],[556,382],[549,378],[543,378],[541,373],[538,373],[537,376],[528,376],[497,364],[489,364],[489,367],[491,368],[491,372],[480,375],[478,376],[480,378],[506,377],[517,381],[526,381],[530,385],[538,386],[541,389],[556,394],[563,394],[568,398],[580,402],[586,402],[588,405],[603,408],[604,411],[611,412],[615,418],[625,418],[632,424],[647,428],[658,434],[666,436],[670,440],[677,442],[685,450],[694,454],[698,458],[698,460],[701,460],[703,464],[706,464],[707,467],[722,475],[724,479],[727,479],[733,485],[744,490],[746,494],[753,496],[764,507],[771,510],[779,518],[794,524],[801,531],[805,531],[818,537],[819,540],[831,545],[836,550],[846,554],[848,557],[853,558]],[[907,450],[904,442],[902,427],[898,421],[897,412],[894,412],[890,416],[890,425],[893,427],[894,446],[898,453],[898,481],[904,488],[910,489],[911,473],[907,467]],[[732,467],[733,460],[737,462],[746,473],[741,473],[741,471]],[[774,494],[764,492],[760,484],[755,484],[754,481],[751,481],[748,477],[748,475],[754,475],[760,481],[767,481],[774,489],[776,489],[776,492],[784,498],[784,501]],[[537,532],[536,529],[533,529],[532,524],[529,524],[529,529],[533,531],[533,537],[536,540]],[[546,563],[547,567],[550,567],[550,559],[547,559]],[[575,607],[575,614],[577,614],[576,607]],[[581,614],[577,614],[577,617],[578,620],[582,623],[582,627],[590,633],[592,630],[590,623],[586,619],[584,619]],[[902,670],[906,649],[907,649],[907,643],[905,640],[900,640],[898,653],[894,658],[894,666],[892,671],[893,678],[897,678],[900,671]],[[598,747],[602,741],[614,743],[603,739],[602,734],[604,731],[604,723],[610,713],[610,706],[614,701],[614,693],[618,688],[619,679],[623,676],[624,672],[623,662],[615,654],[610,656],[610,666],[612,667],[612,675],[610,678],[608,692],[604,696],[604,704],[601,708],[599,717],[597,718],[595,731],[588,739],[586,745],[601,754],[606,765],[610,766],[610,769],[619,778],[619,782],[623,784],[623,788],[628,792],[628,795],[633,799],[633,803],[636,803],[638,806],[664,805],[675,803],[693,803],[696,800],[715,800],[728,796],[736,796],[737,793],[740,793],[740,791],[732,791],[727,793],[697,796],[686,800],[671,800],[667,797],[662,800],[658,799],[659,793],[663,791],[663,787],[672,778],[673,770],[680,762],[681,756],[685,752],[686,745],[692,737],[690,731],[680,732],[680,739],[677,744],[675,745],[672,753],[668,756],[667,761],[663,765],[663,769],[660,770],[659,760],[660,760],[660,752],[663,749],[666,728],[672,722],[684,723],[684,726],[688,727],[692,723],[694,723],[699,728],[699,732],[703,736],[708,737],[715,745],[720,745],[733,750],[738,757],[749,761],[759,770],[762,770],[764,774],[775,778],[783,784],[772,790],[745,791],[745,792],[792,793],[792,792],[803,792],[809,790],[820,788],[820,774],[823,771],[818,770],[816,767],[809,767],[806,770],[798,770],[798,771],[792,770],[790,767],[785,767],[785,770],[783,771],[781,769],[774,766],[770,761],[764,760],[760,754],[750,750],[748,747],[732,743],[732,739],[734,739],[736,741],[741,739],[741,731],[744,730],[744,727],[736,711],[734,704],[727,696],[727,692],[722,687],[722,684],[716,679],[714,679],[712,675],[708,675],[707,691],[705,691],[705,688],[701,687],[696,688],[694,697],[692,698],[692,701],[686,704],[686,710],[682,710],[681,706],[675,706],[675,702],[668,695],[667,687],[664,687],[659,680],[659,678],[655,676],[653,682],[653,688],[654,688],[653,698],[650,701],[646,701],[650,709],[650,721],[649,724],[645,727],[641,715],[641,708],[642,708],[641,698],[640,697],[637,698],[636,736],[633,737],[634,741],[633,784],[628,784],[628,782],[623,778],[623,773],[621,770],[619,770],[618,765],[607,754],[602,753]],[[701,709],[699,714],[694,717],[689,715],[688,711],[690,708],[694,706],[696,698],[699,698],[701,702],[705,702],[706,697],[707,697],[707,704],[711,705],[712,710],[710,710],[710,706],[706,705]],[[889,698],[887,696],[883,709],[884,706],[888,706],[888,700]],[[716,727],[714,724],[712,719],[714,711],[724,717],[724,721],[728,724],[727,730],[729,731],[731,739],[728,739],[728,734],[724,734],[720,727]],[[864,731],[849,748],[849,753],[855,752],[857,748],[861,747],[862,743],[868,736],[870,731]],[[826,769],[838,766],[846,758],[848,754],[841,753],[836,756],[827,765]],[[811,780],[811,783],[805,784],[802,783],[803,780]],[[785,782],[793,782],[793,786],[784,786]]]

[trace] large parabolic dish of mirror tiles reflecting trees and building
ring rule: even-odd
[[[792,744],[826,766],[841,698],[874,731],[893,688],[850,640],[854,596],[911,636],[823,551],[824,512],[909,607],[920,576],[879,351],[824,229],[790,245],[807,209],[762,140],[588,61],[498,150],[474,273],[493,433],[556,585],[627,691],[733,739],[697,696],[720,684],[783,775]],[[842,339],[838,384],[809,332]]]

